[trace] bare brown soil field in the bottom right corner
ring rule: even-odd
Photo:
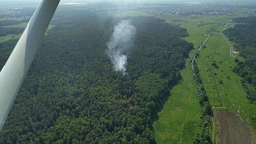
[[[218,124],[216,144],[256,144],[251,126],[230,111],[214,111]]]

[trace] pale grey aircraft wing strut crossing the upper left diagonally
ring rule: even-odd
[[[0,72],[0,131],[59,2],[40,2]]]

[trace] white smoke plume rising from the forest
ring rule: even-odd
[[[133,36],[136,33],[135,26],[128,20],[122,20],[114,27],[114,32],[107,43],[107,55],[114,64],[114,69],[119,72],[126,71],[127,56],[123,52],[133,45]]]

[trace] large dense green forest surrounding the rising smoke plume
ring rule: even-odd
[[[120,18],[70,14],[54,21],[0,133],[0,143],[156,143],[152,122],[193,44],[186,29],[130,18],[137,33],[126,74],[106,54]],[[0,68],[17,40],[0,44]]]

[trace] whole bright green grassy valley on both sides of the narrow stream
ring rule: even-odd
[[[233,17],[238,16],[241,15],[238,14]],[[201,132],[198,126],[195,126],[194,130],[190,132],[191,126],[185,123],[200,121],[201,111],[198,104],[197,88],[192,78],[193,72],[190,60],[192,60],[192,56],[198,46],[201,45],[208,34],[210,34],[210,38],[205,44],[206,48],[200,51],[199,57],[195,61],[198,64],[210,104],[214,111],[227,110],[236,112],[245,122],[252,126],[255,132],[256,126],[255,123],[251,122],[250,117],[256,116],[256,105],[252,105],[247,101],[246,93],[240,83],[240,77],[232,72],[232,67],[236,65],[234,62],[235,57],[230,56],[230,46],[219,35],[228,19],[232,19],[232,17],[208,16],[192,18],[191,16],[172,16],[158,18],[165,19],[172,25],[186,28],[189,37],[184,37],[184,39],[193,43],[195,49],[190,52],[190,58],[186,59],[186,68],[181,70],[182,82],[172,89],[172,96],[165,103],[165,108],[158,113],[158,120],[154,122],[157,142],[159,144],[192,143],[191,138],[194,133]],[[233,42],[230,43],[234,44]],[[236,58],[243,60],[240,56],[236,56]],[[212,66],[214,60],[219,66],[218,69]],[[223,84],[219,84],[220,81]],[[193,116],[187,114],[193,114]],[[214,122],[212,140],[215,143],[218,125],[215,118],[212,118],[212,121]],[[184,136],[184,133],[187,136]]]

